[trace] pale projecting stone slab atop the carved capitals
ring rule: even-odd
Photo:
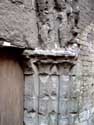
[[[70,63],[75,64],[78,54],[68,50],[25,50],[23,53],[34,62],[41,63]]]

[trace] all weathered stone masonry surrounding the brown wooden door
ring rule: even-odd
[[[93,20],[93,0],[0,0],[0,45],[24,48],[25,125],[94,125]]]

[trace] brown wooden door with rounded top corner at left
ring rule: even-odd
[[[23,124],[23,88],[18,62],[0,56],[0,125]]]

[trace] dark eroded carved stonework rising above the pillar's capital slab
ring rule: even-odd
[[[79,33],[78,0],[37,0],[37,13],[43,48],[62,48],[67,42],[74,42]]]

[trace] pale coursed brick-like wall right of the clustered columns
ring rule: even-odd
[[[77,125],[94,124],[94,2],[81,0],[80,5],[80,55],[77,65],[73,69],[74,94],[78,98]]]

